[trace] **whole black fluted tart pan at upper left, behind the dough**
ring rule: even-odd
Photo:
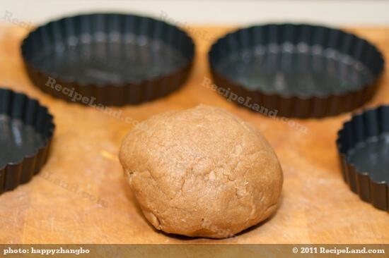
[[[190,73],[192,39],[178,27],[130,14],[54,20],[23,40],[30,79],[81,104],[139,104],[177,90]]]

